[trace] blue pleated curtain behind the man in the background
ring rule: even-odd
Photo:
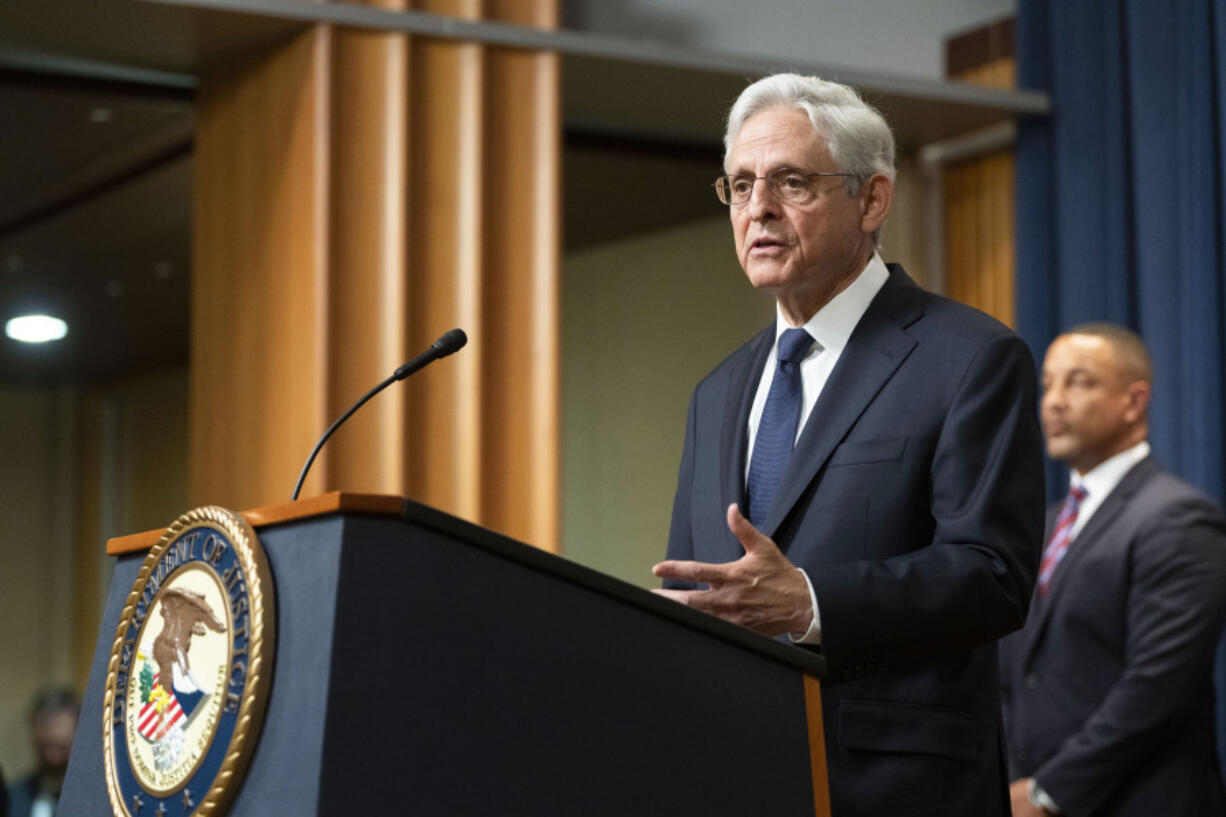
[[[1078,323],[1138,331],[1155,456],[1222,502],[1226,0],[1021,0],[1018,70],[1053,108],[1018,134],[1019,331],[1038,361]],[[1226,649],[1217,678],[1226,758]]]

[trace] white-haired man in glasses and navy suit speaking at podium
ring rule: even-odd
[[[777,316],[694,391],[658,593],[825,656],[836,817],[1007,815],[996,639],[1042,539],[1034,361],[881,261],[894,137],[855,91],[760,80],[725,147],[716,193]]]

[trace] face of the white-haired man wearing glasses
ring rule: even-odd
[[[765,177],[779,168],[837,173],[825,140],[796,108],[767,108],[742,126],[727,156],[731,175]],[[765,180],[753,196],[729,207],[737,259],[749,282],[776,298],[807,301],[859,274],[872,253],[864,223],[864,193],[847,194],[846,179],[813,179],[818,195],[807,205],[775,199]]]

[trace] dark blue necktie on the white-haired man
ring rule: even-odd
[[[754,458],[749,462],[749,521],[761,527],[775,502],[775,493],[787,469],[801,422],[801,361],[813,346],[803,329],[786,329],[779,336],[775,378],[766,394],[766,407],[754,438]]]

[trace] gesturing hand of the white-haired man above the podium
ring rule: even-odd
[[[661,579],[702,583],[709,590],[656,590],[683,605],[748,627],[763,635],[803,633],[813,621],[809,586],[779,546],[728,505],[728,529],[745,548],[736,562],[661,562]]]

